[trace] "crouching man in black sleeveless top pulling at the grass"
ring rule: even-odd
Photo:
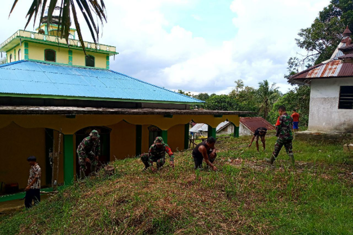
[[[199,143],[192,151],[192,157],[195,162],[195,169],[202,168],[202,162],[205,160],[207,166],[211,167],[214,171],[217,171],[217,167],[213,165],[216,159],[216,139],[212,136],[208,137],[207,140]]]

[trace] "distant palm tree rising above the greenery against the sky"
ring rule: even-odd
[[[261,101],[260,113],[262,113],[263,117],[267,119],[272,105],[280,97],[281,92],[278,90],[278,87],[276,87],[275,83],[270,86],[269,82],[267,80],[264,80],[262,82],[259,82],[257,95]]]

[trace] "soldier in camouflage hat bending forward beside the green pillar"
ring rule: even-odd
[[[78,164],[80,165],[80,179],[86,177],[86,163],[91,163],[91,174],[95,174],[98,164],[98,154],[101,144],[98,131],[92,130],[88,137],[84,138],[77,148]]]

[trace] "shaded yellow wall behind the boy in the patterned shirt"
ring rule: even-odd
[[[33,155],[42,169],[41,184],[46,184],[45,130],[26,129],[14,123],[0,129],[0,181],[27,186],[30,166],[27,157]]]

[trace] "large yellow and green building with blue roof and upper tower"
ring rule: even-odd
[[[204,102],[109,70],[115,47],[84,42],[86,56],[74,30],[67,45],[55,34],[57,27],[47,30],[44,23],[38,32],[18,30],[0,45],[8,62],[0,65],[0,181],[5,184],[26,187],[26,158],[34,155],[43,186],[50,185],[50,152],[60,143],[58,183],[70,185],[78,172],[76,148],[92,129],[100,132],[100,161],[106,163],[148,151],[156,136],[172,150],[188,148],[191,120],[209,124],[208,134],[215,136],[220,123],[228,120],[239,128],[238,115],[247,113],[190,110]],[[16,198],[0,197],[0,202],[10,199]]]

